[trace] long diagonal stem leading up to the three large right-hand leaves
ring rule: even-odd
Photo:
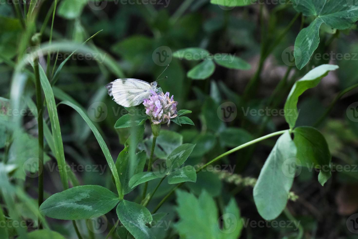
[[[281,130],[281,131],[277,131],[277,132],[274,132],[274,133],[271,133],[271,134],[267,134],[265,136],[262,136],[260,138],[257,138],[257,139],[254,139],[254,140],[251,140],[250,142],[247,142],[245,144],[241,144],[239,145],[238,147],[236,148],[233,148],[221,155],[219,155],[218,157],[212,159],[210,162],[206,163],[204,166],[202,166],[201,168],[197,169],[197,173],[202,171],[204,168],[206,168],[209,164],[212,164],[216,161],[218,161],[219,159],[229,155],[229,154],[232,154],[233,152],[236,152],[237,150],[240,150],[240,149],[243,149],[245,147],[248,147],[252,144],[255,144],[257,142],[260,142],[262,140],[265,140],[265,139],[268,139],[268,138],[271,138],[271,137],[274,137],[274,136],[277,136],[277,135],[281,135],[281,134],[284,134],[285,132],[289,131],[289,129],[286,129],[286,130]],[[155,213],[156,211],[158,211],[158,209],[161,207],[161,205],[163,205],[163,203],[168,199],[168,197],[177,189],[179,188],[180,186],[182,186],[184,184],[184,182],[182,183],[179,183],[176,187],[174,187],[160,202],[159,204],[155,207],[155,209],[153,210],[152,214]]]

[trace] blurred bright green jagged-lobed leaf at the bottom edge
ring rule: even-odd
[[[216,203],[206,191],[203,191],[198,198],[182,190],[176,190],[176,195],[179,221],[174,227],[180,238],[240,238],[242,220],[234,199],[231,199],[225,207],[224,215],[219,217]],[[223,220],[230,224],[222,226]]]

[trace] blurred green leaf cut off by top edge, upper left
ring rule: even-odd
[[[90,0],[91,1],[91,0]],[[58,6],[57,14],[66,19],[75,19],[81,16],[87,0],[64,0]]]

